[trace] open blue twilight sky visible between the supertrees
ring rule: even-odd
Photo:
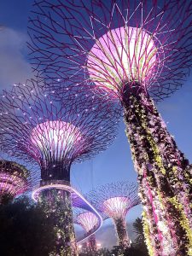
[[[25,82],[32,78],[31,67],[27,61],[27,17],[33,0],[2,0],[0,2],[0,88],[9,88],[11,84]],[[167,123],[168,130],[175,137],[177,146],[189,161],[192,161],[192,75],[171,98],[158,104],[158,109]],[[115,181],[137,181],[131,152],[125,137],[123,120],[119,127],[119,136],[107,151],[95,159],[72,167],[72,183],[83,193],[97,185]],[[141,216],[142,207],[131,210],[128,223]],[[110,221],[104,224],[111,225]],[[103,228],[98,232],[98,239],[103,246],[113,245],[115,237],[108,227],[108,234]]]

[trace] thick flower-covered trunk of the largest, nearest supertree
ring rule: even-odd
[[[192,255],[192,180],[154,102],[143,91],[124,100],[126,134],[138,173],[145,220],[153,221],[151,255]],[[146,223],[146,221],[145,221]],[[145,234],[146,235],[146,234]],[[147,236],[147,235],[146,235]]]

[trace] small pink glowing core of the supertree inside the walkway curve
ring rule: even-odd
[[[79,213],[75,218],[75,223],[82,226],[82,228],[88,233],[90,230],[96,228],[99,224],[99,220],[93,212]]]

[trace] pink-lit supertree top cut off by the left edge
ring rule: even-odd
[[[14,199],[30,187],[30,172],[24,166],[0,160],[0,203]]]

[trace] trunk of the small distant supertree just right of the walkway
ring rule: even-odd
[[[120,253],[123,253],[126,248],[130,247],[130,239],[126,231],[126,224],[124,218],[114,218],[113,219],[116,234],[118,236],[118,245],[120,248]]]

